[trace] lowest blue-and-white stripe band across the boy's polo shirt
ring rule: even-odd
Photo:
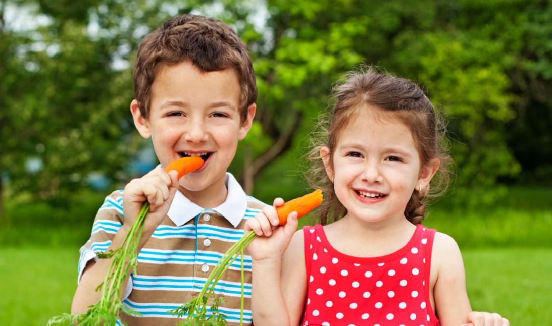
[[[138,303],[133,302],[128,299],[125,299],[123,301],[123,304],[136,312],[139,312],[142,314],[143,317],[155,317],[155,318],[177,318],[176,316],[173,316],[172,314],[168,313],[169,310],[176,309],[181,306],[181,304],[178,303]],[[219,312],[226,315],[226,321],[227,322],[234,322],[238,323],[240,322],[240,309],[230,309],[230,308],[224,308],[219,307]],[[211,316],[212,312],[211,309],[207,309],[206,316]],[[184,317],[185,318],[185,317]],[[243,323],[244,324],[251,324],[253,322],[253,316],[251,314],[250,310],[243,311]]]

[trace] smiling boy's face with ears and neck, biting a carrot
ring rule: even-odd
[[[151,87],[150,116],[145,119],[136,100],[131,111],[137,129],[152,138],[160,163],[201,156],[199,170],[180,179],[180,189],[190,200],[206,207],[226,198],[224,185],[238,141],[251,128],[256,106],[240,120],[240,83],[232,69],[201,72],[190,62],[162,65]],[[213,206],[216,207],[216,206]]]

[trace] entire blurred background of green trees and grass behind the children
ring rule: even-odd
[[[69,312],[103,197],[157,164],[132,124],[132,65],[181,13],[250,48],[258,111],[230,170],[266,202],[308,189],[309,135],[344,72],[422,85],[456,162],[424,224],[459,243],[475,310],[552,324],[552,1],[0,0],[2,325]]]

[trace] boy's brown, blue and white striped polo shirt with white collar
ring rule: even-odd
[[[121,314],[121,320],[129,325],[176,324],[178,319],[167,311],[199,295],[219,259],[243,236],[246,220],[266,206],[247,196],[232,174],[226,173],[225,182],[226,201],[213,209],[203,209],[177,191],[167,216],[140,250],[137,272],[130,275],[124,296],[123,304],[142,317]],[[123,219],[123,191],[119,190],[105,198],[95,217],[92,235],[80,250],[79,280],[88,261],[98,259],[95,252],[109,247]],[[247,249],[244,256],[243,323],[251,324],[251,256]],[[217,297],[224,297],[219,312],[226,315],[229,325],[237,325],[241,301],[240,258],[222,276],[215,293]]]

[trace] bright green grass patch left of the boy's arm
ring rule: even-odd
[[[45,325],[69,312],[77,287],[78,248],[0,248],[2,325]]]

